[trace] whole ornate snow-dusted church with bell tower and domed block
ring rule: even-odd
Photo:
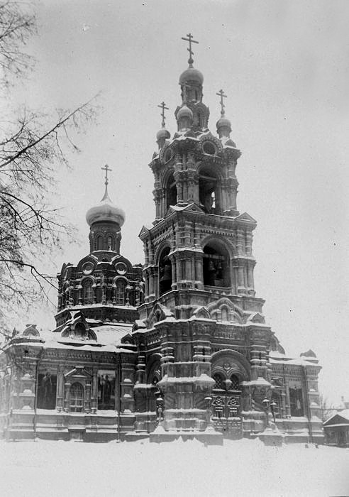
[[[257,223],[237,207],[240,150],[226,95],[217,94],[221,116],[210,131],[197,42],[183,39],[189,65],[172,135],[159,106],[144,264],[121,255],[126,216],[109,197],[106,166],[104,197],[86,217],[89,254],[57,275],[55,329],[28,324],[0,354],[8,439],[323,442],[321,367],[311,350],[287,356],[265,322],[254,285]]]

